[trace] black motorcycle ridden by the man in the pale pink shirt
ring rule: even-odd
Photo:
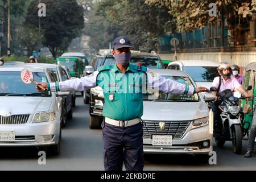
[[[252,86],[247,86],[246,90],[251,90]],[[216,92],[217,88],[210,88],[210,91]],[[232,90],[226,89],[218,94],[215,102],[220,105],[220,119],[214,121],[213,136],[218,147],[223,147],[226,141],[232,141],[233,152],[241,154],[242,152],[242,122],[244,114],[240,106],[240,100],[243,97],[234,97]]]

